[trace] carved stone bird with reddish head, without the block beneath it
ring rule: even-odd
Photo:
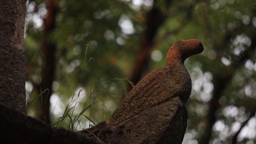
[[[185,104],[191,94],[191,78],[184,61],[191,55],[201,53],[203,49],[199,40],[179,40],[174,43],[167,53],[166,67],[156,68],[138,82],[107,124],[121,123],[170,98],[180,99]]]

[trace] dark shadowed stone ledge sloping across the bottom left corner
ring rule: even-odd
[[[103,144],[64,128],[26,116],[0,104],[0,141],[2,144]]]

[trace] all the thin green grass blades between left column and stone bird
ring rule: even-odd
[[[86,59],[88,48],[90,48],[92,50],[91,42],[88,42],[88,44],[86,44],[85,46],[86,47],[85,47],[84,59]],[[45,56],[41,51],[37,51],[35,53],[35,55],[38,52],[40,53],[39,55],[41,55],[42,58],[43,58],[43,67],[45,67]],[[34,57],[35,57],[35,55],[34,55]],[[34,59],[34,57],[33,57],[33,59]],[[32,59],[32,61],[33,61],[33,59]],[[89,58],[89,60],[86,64],[86,68],[88,68],[91,65],[94,65],[94,62],[95,62],[94,58]],[[38,76],[37,76],[37,78],[38,78],[39,83],[40,83],[40,79],[39,79]],[[110,91],[103,88],[105,85],[109,85],[112,82],[120,83],[122,88],[123,88],[124,93],[110,92]],[[114,79],[110,79],[110,80],[101,80],[100,82],[96,83],[95,86],[92,85],[92,83],[93,82],[92,82],[92,76],[91,76],[91,85],[90,85],[88,94],[81,94],[81,91],[83,89],[81,89],[77,93],[77,95],[75,95],[75,93],[73,93],[73,96],[72,96],[70,102],[67,104],[67,106],[65,106],[64,113],[62,114],[61,117],[59,117],[57,119],[57,122],[54,122],[52,124],[52,126],[64,127],[64,128],[66,128],[68,130],[71,130],[71,131],[78,131],[82,128],[85,128],[85,124],[83,123],[85,121],[89,121],[89,127],[92,127],[92,126],[96,125],[94,115],[93,115],[94,105],[97,104],[97,102],[102,102],[102,109],[101,109],[102,116],[103,116],[102,120],[105,120],[104,113],[105,113],[105,109],[107,109],[106,105],[104,104],[104,101],[102,99],[97,98],[97,95],[100,95],[100,94],[125,95],[127,93],[128,84],[132,85],[132,83],[128,79],[123,79],[123,78],[114,78]],[[46,95],[46,96],[43,96],[43,95]],[[78,100],[78,98],[80,98],[81,95],[86,95],[87,96],[87,98],[85,99],[85,101],[82,104],[82,107],[79,106],[80,101]],[[34,98],[31,102],[28,102],[28,104],[31,104],[36,99],[41,99],[41,102],[43,102],[43,98],[47,99],[48,96],[49,96],[49,89],[42,90],[41,85],[40,85],[40,94],[37,95],[36,98]],[[60,98],[61,98],[61,95],[59,96],[58,101],[60,100]],[[57,103],[58,103],[58,101],[57,101]],[[57,103],[55,104],[55,107],[56,107]],[[43,110],[43,105],[44,104],[41,103],[40,105],[41,105],[41,108]],[[55,107],[52,111],[52,116],[53,116]],[[51,120],[52,120],[52,116],[51,116]],[[44,114],[44,119],[46,120],[45,114]]]

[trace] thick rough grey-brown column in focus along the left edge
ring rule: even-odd
[[[26,113],[25,0],[0,0],[0,103]]]

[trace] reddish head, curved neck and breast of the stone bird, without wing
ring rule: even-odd
[[[180,100],[185,104],[191,94],[191,78],[184,66],[189,56],[201,53],[203,46],[199,40],[179,40],[167,53],[166,66],[171,82],[176,85]]]

